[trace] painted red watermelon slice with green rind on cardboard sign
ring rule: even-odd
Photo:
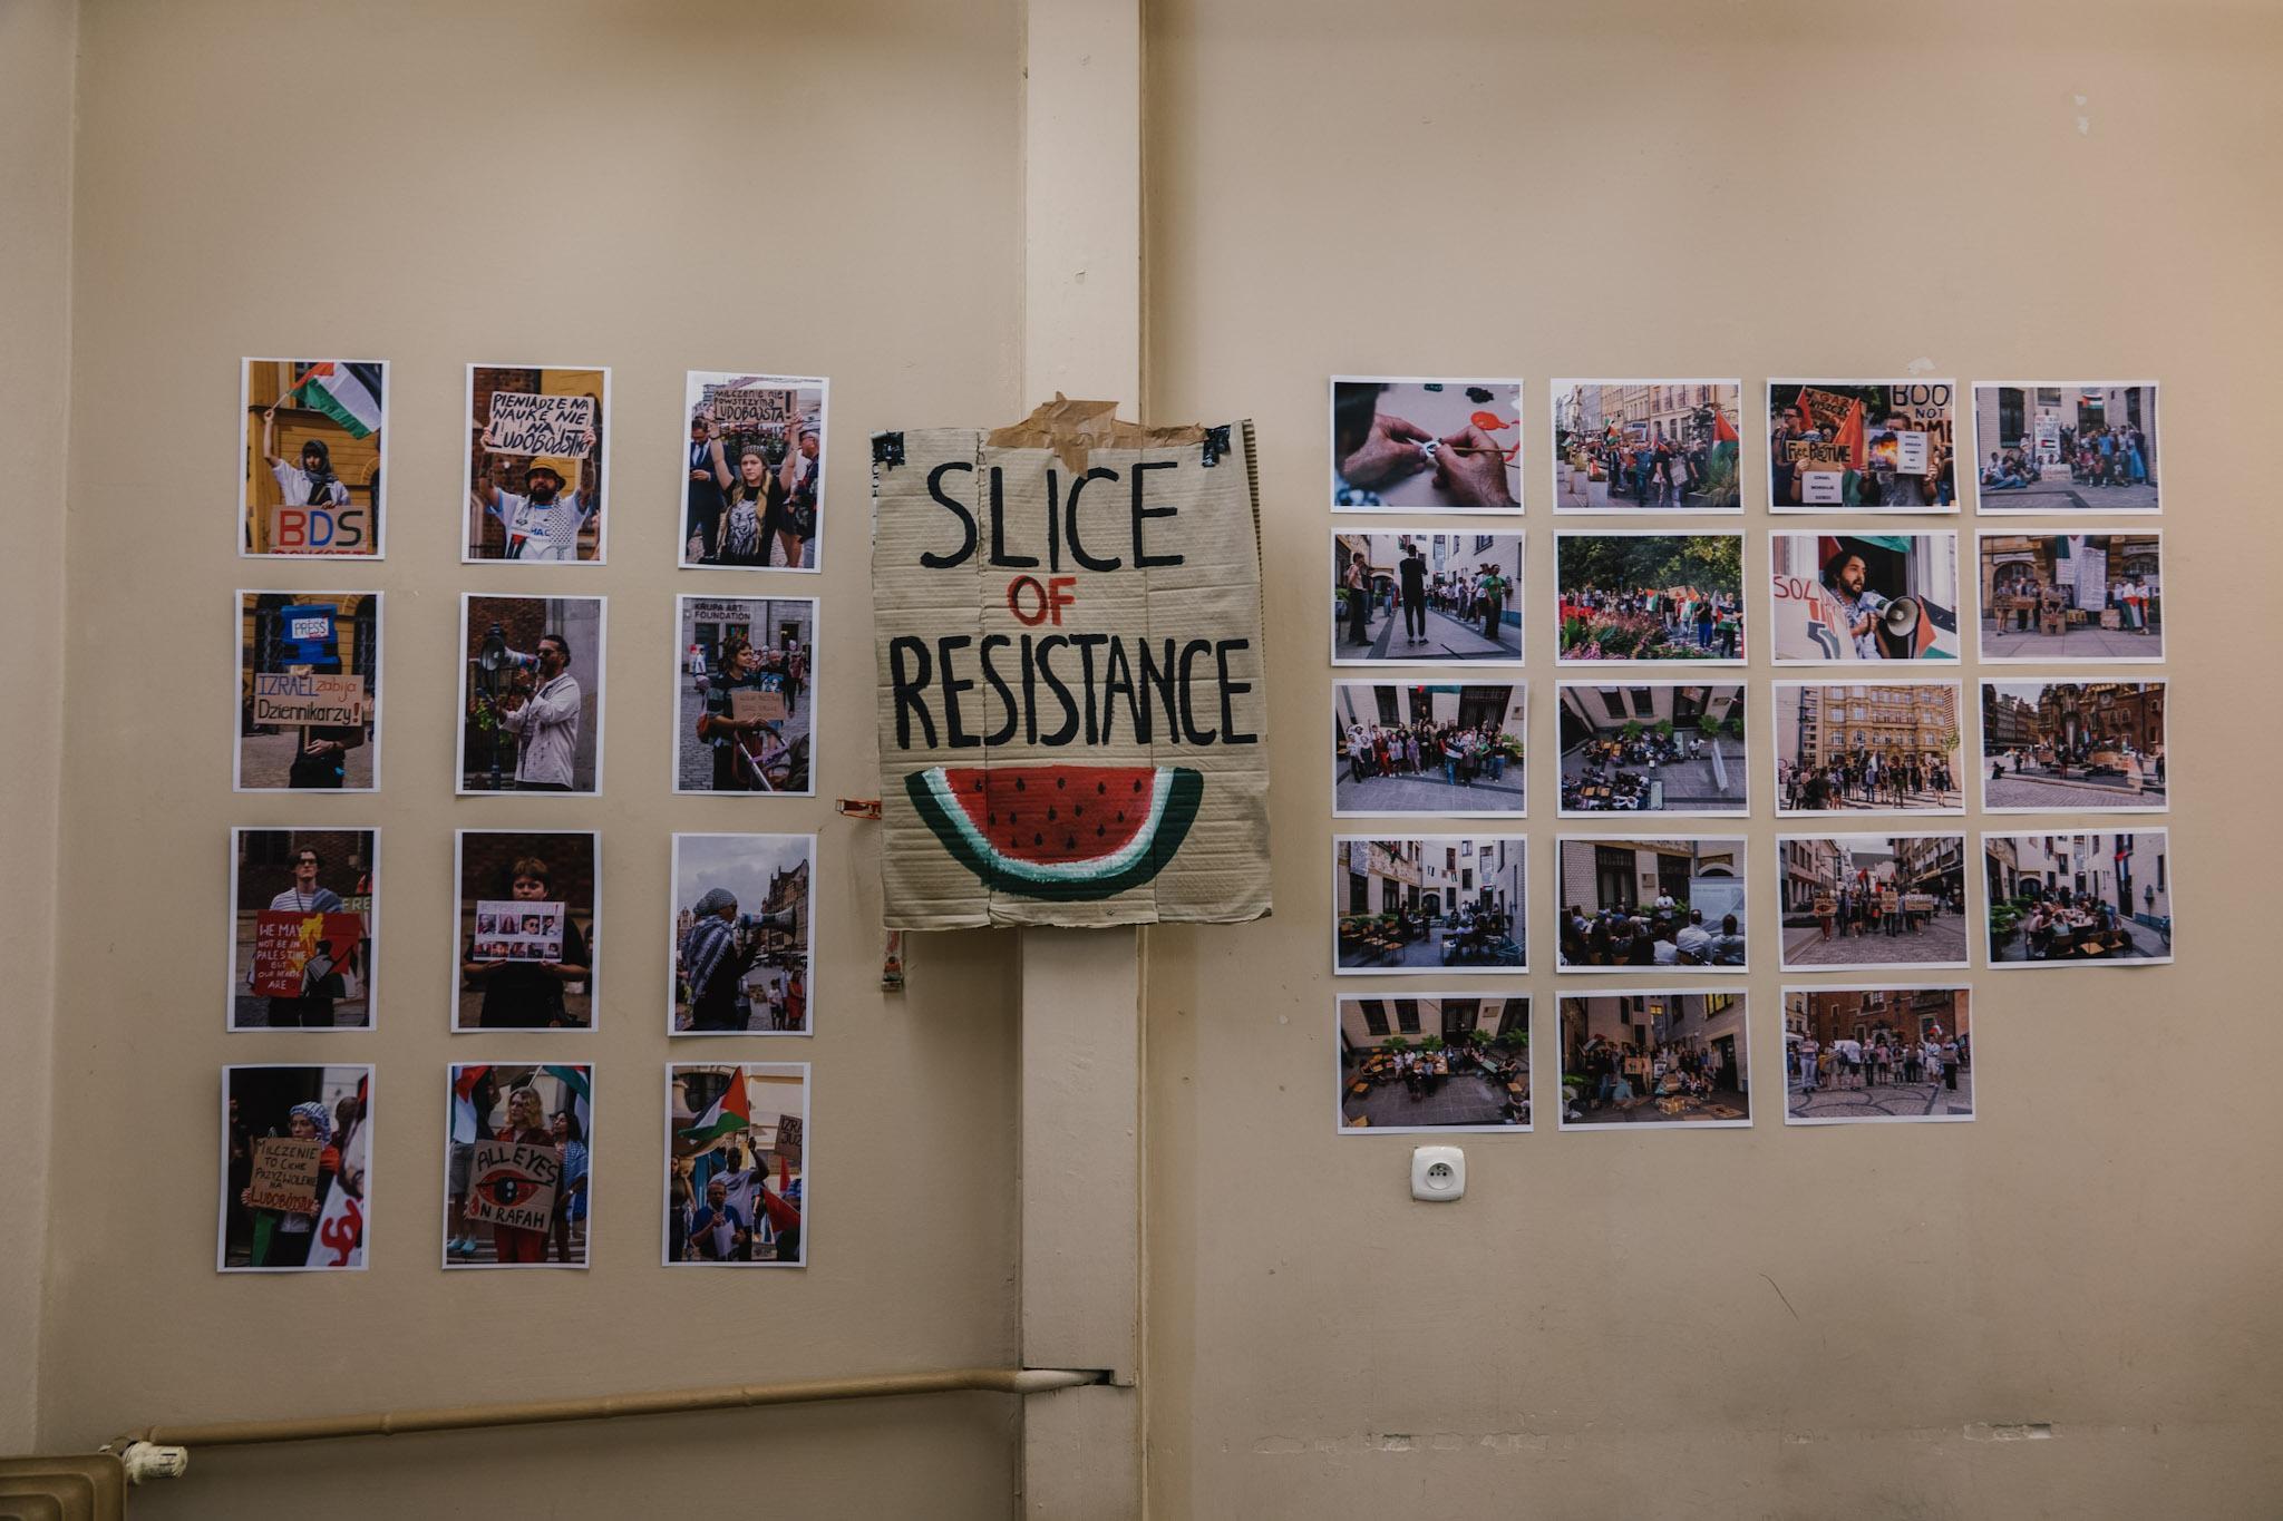
[[[1089,903],[1173,860],[1205,778],[1187,766],[929,766],[904,778],[904,794],[984,887]]]

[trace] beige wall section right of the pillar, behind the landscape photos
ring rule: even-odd
[[[2251,885],[2278,830],[2251,757],[2283,734],[2269,684],[2205,673],[2274,659],[2283,14],[1162,0],[1148,46],[1151,413],[1258,420],[1285,629],[1276,919],[1151,937],[1153,1512],[2274,1514],[2283,1026]],[[1982,1117],[1788,1133],[1758,933],[1756,1129],[1555,1133],[1541,1060],[1539,1133],[1463,1138],[1468,1197],[1411,1204],[1415,1138],[1333,1133],[1324,376],[1530,379],[1543,969],[1498,990],[1550,1047],[1575,978],[1543,898],[1546,381],[1742,374],[1756,415],[1769,374],[1920,358],[2167,385],[2180,965],[1975,971]],[[1758,707],[1751,737],[1772,926]]]

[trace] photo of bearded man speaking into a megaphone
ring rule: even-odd
[[[1959,659],[1959,536],[1769,534],[1778,666]]]

